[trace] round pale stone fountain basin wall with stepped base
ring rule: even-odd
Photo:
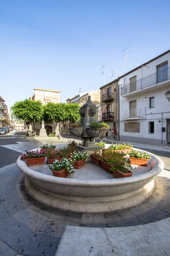
[[[81,180],[41,174],[31,170],[20,157],[17,159],[18,168],[26,175],[26,189],[33,198],[50,207],[83,213],[116,212],[150,198],[155,189],[154,177],[164,169],[164,163],[154,154],[149,163],[150,171],[134,177]]]

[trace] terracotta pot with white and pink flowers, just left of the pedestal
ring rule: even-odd
[[[74,151],[71,153],[71,159],[74,161],[73,167],[75,169],[80,169],[82,166],[85,165],[85,160],[88,157],[87,151],[84,152],[76,152]]]

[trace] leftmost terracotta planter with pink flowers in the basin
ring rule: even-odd
[[[22,154],[20,156],[20,159],[26,160],[28,166],[41,165],[41,164],[44,164],[45,155],[43,152],[39,151],[38,149],[36,151],[26,150],[26,153]]]

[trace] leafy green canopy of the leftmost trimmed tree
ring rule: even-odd
[[[25,122],[41,122],[43,116],[42,102],[25,99],[16,102],[11,107],[15,118],[22,119]]]

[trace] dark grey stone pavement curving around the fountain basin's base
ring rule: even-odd
[[[80,214],[45,207],[29,196],[15,163],[0,169],[0,255],[54,256],[67,225],[127,227],[170,217],[170,172],[155,178],[152,197],[108,214]]]

